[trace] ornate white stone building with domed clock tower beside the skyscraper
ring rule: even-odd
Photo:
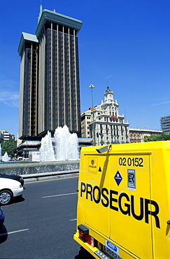
[[[118,106],[107,87],[104,102],[81,114],[82,137],[92,137],[94,146],[129,143],[129,123],[119,114]]]

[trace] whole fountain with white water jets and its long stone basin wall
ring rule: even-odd
[[[53,147],[52,147],[53,144]],[[6,174],[23,175],[25,179],[35,178],[37,181],[43,176],[78,174],[79,153],[77,134],[71,134],[67,126],[58,127],[55,137],[50,132],[41,140],[40,159],[34,162],[2,163],[1,172]],[[6,153],[6,155],[8,155]]]

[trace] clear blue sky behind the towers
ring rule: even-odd
[[[34,34],[39,6],[83,22],[78,34],[81,112],[109,86],[129,127],[160,130],[170,114],[169,0],[9,0],[0,7],[0,130],[17,136],[22,31]]]

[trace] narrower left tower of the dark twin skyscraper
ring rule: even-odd
[[[21,47],[22,46],[22,47]],[[38,40],[22,32],[20,40],[19,137],[38,135]]]

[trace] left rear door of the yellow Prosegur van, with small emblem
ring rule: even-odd
[[[109,169],[108,156],[85,156],[85,210],[84,221],[93,229],[108,236],[109,209],[106,207],[104,195],[108,190]],[[107,174],[106,174],[107,172]]]

